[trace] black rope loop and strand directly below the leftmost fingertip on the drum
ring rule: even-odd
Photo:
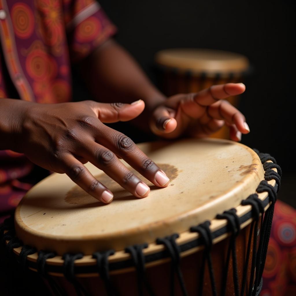
[[[98,268],[98,273],[104,283],[106,292],[108,296],[118,295],[118,292],[115,290],[109,274],[109,262],[108,257],[114,255],[114,250],[108,250],[106,252],[94,252],[92,257],[96,259],[96,264]]]

